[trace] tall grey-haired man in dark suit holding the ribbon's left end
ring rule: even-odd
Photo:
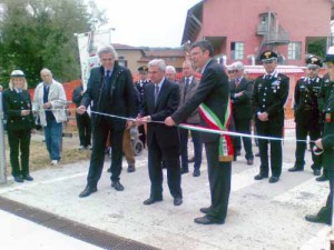
[[[110,133],[111,154],[111,187],[122,191],[119,182],[122,159],[124,130],[132,126],[131,120],[122,120],[100,113],[127,118],[136,117],[135,94],[131,72],[115,62],[117,53],[114,47],[104,47],[98,51],[101,67],[91,69],[87,90],[77,108],[78,113],[85,113],[91,106],[92,120],[92,152],[90,157],[87,187],[80,198],[97,191],[97,183],[101,177],[105,162],[105,147]]]

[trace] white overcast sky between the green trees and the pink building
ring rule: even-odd
[[[179,47],[187,11],[198,2],[200,0],[96,0],[98,8],[107,11],[108,27],[115,28],[111,42],[134,47]]]

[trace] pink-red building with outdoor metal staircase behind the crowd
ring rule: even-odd
[[[332,0],[204,0],[188,10],[181,43],[209,40],[227,64],[255,63],[273,49],[279,63],[304,66],[310,42],[330,40],[333,6]]]

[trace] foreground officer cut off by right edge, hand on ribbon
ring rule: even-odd
[[[334,47],[330,48],[324,60],[327,64],[330,83],[334,84]],[[317,149],[323,150],[323,166],[327,169],[330,179],[330,194],[326,206],[317,214],[307,214],[305,219],[310,222],[332,224],[333,193],[334,193],[334,93],[332,91],[324,108],[325,121],[322,138],[315,141]],[[318,151],[318,150],[317,150]]]

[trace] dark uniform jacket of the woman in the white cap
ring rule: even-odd
[[[20,94],[16,90],[6,90],[3,92],[3,108],[8,130],[30,131],[35,129],[31,98],[27,90],[22,90]],[[22,117],[22,110],[30,110],[30,114]]]

